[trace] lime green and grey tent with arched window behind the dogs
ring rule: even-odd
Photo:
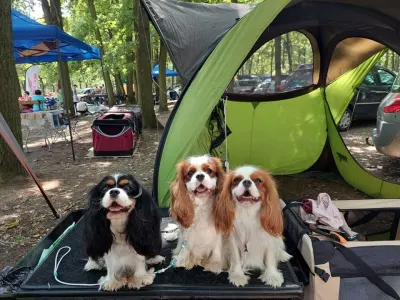
[[[336,165],[341,176],[364,193],[399,197],[400,185],[375,177],[354,160],[336,124],[386,47],[400,53],[400,1],[142,4],[186,82],[155,162],[154,194],[162,207],[169,206],[177,162],[205,153],[225,160],[226,150],[230,168],[254,164],[287,175]],[[254,52],[291,31],[310,41],[310,85],[267,95],[226,92]]]

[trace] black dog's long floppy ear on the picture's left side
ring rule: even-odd
[[[103,181],[102,181],[103,182]],[[89,203],[84,215],[86,254],[97,259],[107,253],[113,242],[107,211],[101,206],[102,182],[89,192]]]

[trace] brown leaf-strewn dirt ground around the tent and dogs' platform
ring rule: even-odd
[[[168,113],[158,114],[158,119],[165,124],[168,116]],[[75,162],[72,160],[70,145],[62,141],[52,145],[52,152],[49,152],[42,148],[42,140],[33,140],[29,145],[30,152],[26,154],[47,195],[62,216],[85,207],[88,190],[107,174],[132,173],[147,188],[152,187],[153,165],[161,130],[144,130],[137,151],[130,158],[88,158],[87,154],[92,147],[92,122],[93,117],[85,117],[78,124],[77,130],[82,138],[75,141]],[[346,141],[352,143],[349,147],[353,152],[360,152],[357,147],[364,147],[356,138],[362,136],[357,130],[361,129],[354,128],[356,134],[353,138],[352,130],[344,134]],[[371,165],[381,165],[380,162],[374,164],[371,158],[369,162]],[[327,192],[333,199],[367,198],[340,179],[278,176],[277,181],[283,199],[315,198],[320,192]],[[1,270],[4,266],[15,264],[54,228],[57,220],[30,177],[1,182],[0,190]],[[386,220],[384,218],[382,222],[386,224]]]

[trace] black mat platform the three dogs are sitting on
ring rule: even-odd
[[[86,272],[83,267],[86,263],[84,254],[83,218],[62,239],[51,254],[42,264],[25,280],[16,297],[44,298],[125,298],[135,299],[293,299],[300,298],[303,293],[302,284],[299,283],[293,267],[289,263],[280,265],[285,278],[281,288],[272,288],[264,285],[257,279],[258,274],[252,274],[250,283],[246,287],[235,287],[229,283],[227,273],[215,275],[204,272],[202,268],[194,268],[190,271],[171,268],[165,273],[156,276],[154,283],[140,290],[122,289],[117,292],[99,291],[96,286],[68,286],[58,283],[53,277],[55,256],[61,247],[71,247],[71,252],[64,257],[59,269],[58,278],[69,283],[97,283],[97,280],[105,275],[105,271]],[[172,222],[170,218],[164,218],[162,226]],[[176,243],[163,240],[162,255],[166,257],[162,265],[155,266],[158,270],[166,267],[171,259],[171,250]],[[59,258],[65,249],[60,251]]]

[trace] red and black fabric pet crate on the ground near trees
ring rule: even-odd
[[[138,137],[134,114],[105,113],[93,121],[94,156],[132,155]]]

